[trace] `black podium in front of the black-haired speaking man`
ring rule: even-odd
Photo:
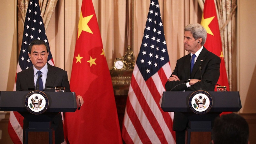
[[[52,119],[59,112],[75,112],[77,110],[75,92],[44,92],[49,100],[47,110],[39,115],[29,113],[25,107],[25,99],[29,91],[0,91],[0,111],[17,111],[27,121],[25,143],[55,143],[54,131],[50,129]]]

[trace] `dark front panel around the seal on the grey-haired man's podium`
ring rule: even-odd
[[[192,91],[165,91],[160,100],[163,111],[191,112],[188,104]],[[213,104],[211,112],[237,112],[242,108],[238,91],[208,91]]]

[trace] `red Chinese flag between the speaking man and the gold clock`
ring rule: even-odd
[[[75,113],[65,114],[69,143],[122,143],[113,86],[91,0],[83,0],[70,89],[83,97]]]

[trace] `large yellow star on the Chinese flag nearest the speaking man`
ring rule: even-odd
[[[80,37],[80,34],[82,33],[82,31],[86,31],[86,32],[89,32],[89,33],[93,34],[93,32],[91,31],[91,29],[88,26],[88,23],[91,20],[92,16],[93,15],[83,17],[82,12],[80,13],[80,18],[79,18],[79,22],[78,22],[78,36],[77,36],[77,39]]]

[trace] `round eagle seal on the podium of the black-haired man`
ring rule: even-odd
[[[44,113],[47,110],[48,105],[48,97],[42,91],[31,91],[26,96],[25,107],[30,113],[34,115]]]

